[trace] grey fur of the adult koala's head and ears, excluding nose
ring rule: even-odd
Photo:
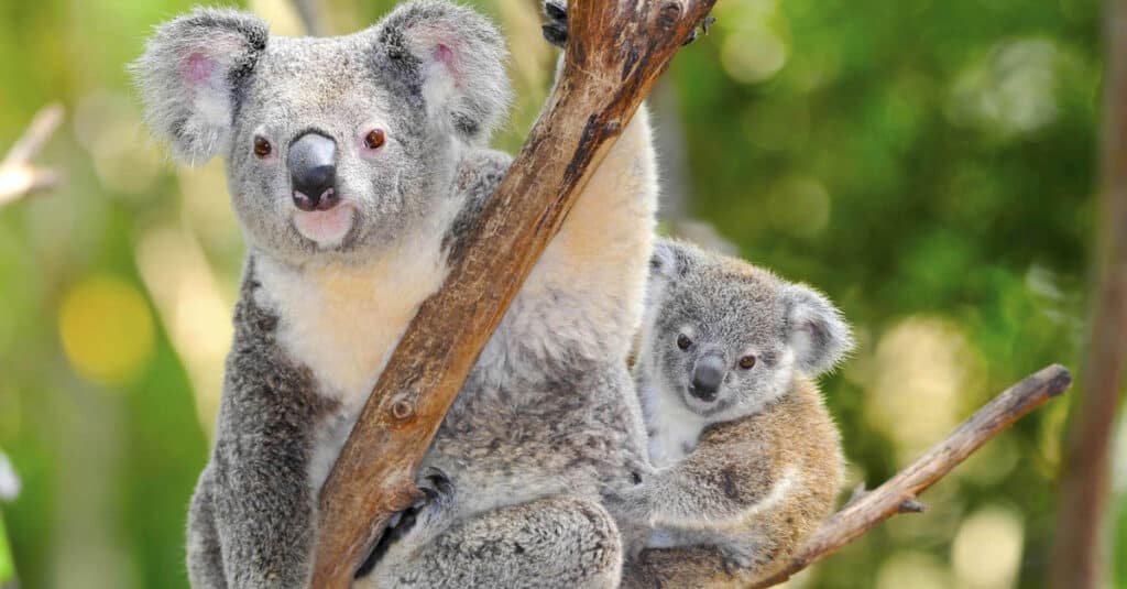
[[[440,46],[454,55],[449,91],[436,74]],[[428,214],[460,150],[488,141],[507,112],[506,58],[503,37],[480,15],[421,0],[328,38],[272,37],[252,15],[201,8],[158,27],[131,69],[145,120],[178,159],[195,165],[225,153],[250,245],[300,263],[339,258],[341,249],[379,252],[402,227],[382,220]],[[367,159],[339,150],[339,192],[350,195],[357,221],[344,248],[325,250],[294,229],[289,201],[273,197],[289,193],[287,146],[316,129],[353,147],[367,126],[384,129],[387,144]],[[272,143],[268,159],[254,155],[256,135]]]

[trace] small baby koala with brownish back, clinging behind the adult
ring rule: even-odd
[[[653,531],[624,587],[751,582],[802,547],[842,471],[813,378],[852,346],[818,292],[657,243],[635,364],[657,469],[621,498]]]

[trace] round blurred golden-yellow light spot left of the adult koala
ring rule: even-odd
[[[74,369],[107,386],[136,377],[153,349],[149,304],[131,284],[105,275],[88,278],[63,296],[59,334]]]

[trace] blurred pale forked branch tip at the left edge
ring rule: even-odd
[[[37,191],[59,184],[59,174],[52,169],[37,168],[30,161],[51,139],[63,121],[63,107],[52,104],[32,118],[3,161],[0,161],[0,206]]]

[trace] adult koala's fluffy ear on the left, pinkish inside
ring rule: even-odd
[[[149,38],[130,70],[145,121],[178,160],[202,164],[229,141],[239,91],[268,36],[252,15],[199,8]]]

